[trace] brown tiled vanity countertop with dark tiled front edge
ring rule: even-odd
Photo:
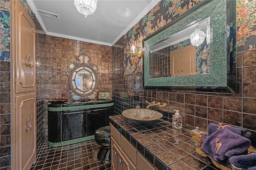
[[[219,170],[196,153],[200,144],[187,129],[173,129],[162,119],[136,122],[123,115],[110,116],[110,123],[158,170]]]

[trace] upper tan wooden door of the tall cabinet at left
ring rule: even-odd
[[[15,1],[16,93],[36,90],[35,24],[19,1]]]

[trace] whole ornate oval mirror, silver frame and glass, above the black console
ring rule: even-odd
[[[88,101],[96,98],[98,66],[91,63],[87,51],[80,51],[74,63],[68,64],[68,83],[73,100]]]

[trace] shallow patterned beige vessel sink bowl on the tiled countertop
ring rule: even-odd
[[[137,121],[152,121],[160,119],[163,116],[162,113],[158,111],[144,108],[127,109],[122,111],[122,115]]]

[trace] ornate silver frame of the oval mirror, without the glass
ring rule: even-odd
[[[80,70],[87,70],[92,75],[92,85],[88,90],[81,90],[76,86],[76,74]],[[94,63],[91,63],[88,51],[81,50],[80,54],[76,57],[76,61],[68,64],[67,74],[72,100],[87,101],[96,98],[99,68]]]

